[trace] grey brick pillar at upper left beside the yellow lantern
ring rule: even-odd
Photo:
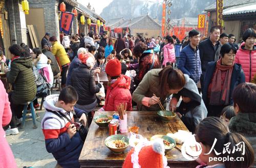
[[[6,1],[9,14],[11,44],[27,43],[26,19],[18,0]]]

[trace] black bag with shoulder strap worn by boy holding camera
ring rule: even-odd
[[[63,118],[67,119],[71,124],[76,124],[77,123],[73,123],[71,121],[71,119],[69,119],[67,116],[63,115],[60,111],[53,111],[53,110],[50,110],[50,109],[46,109],[48,112],[50,113],[53,113],[55,114],[56,116],[58,116],[59,118],[61,118],[62,120],[64,120]],[[86,141],[86,137],[87,137],[87,134],[88,134],[88,128],[87,127],[84,127],[83,125],[80,125],[79,129],[77,130],[82,141]]]

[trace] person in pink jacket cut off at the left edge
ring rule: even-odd
[[[3,126],[10,123],[11,118],[12,112],[8,94],[6,93],[4,85],[0,80],[0,167],[17,167],[12,150],[6,141],[5,131],[3,129]]]

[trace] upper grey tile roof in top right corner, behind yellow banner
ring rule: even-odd
[[[256,0],[223,0],[223,8],[229,8],[233,6],[243,5],[243,4],[249,4],[249,3],[256,3]],[[216,9],[216,2],[207,8],[205,8],[205,11],[212,11]]]

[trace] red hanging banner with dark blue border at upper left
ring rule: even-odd
[[[60,16],[60,32],[69,34],[73,22],[74,14],[70,12],[61,12]]]

